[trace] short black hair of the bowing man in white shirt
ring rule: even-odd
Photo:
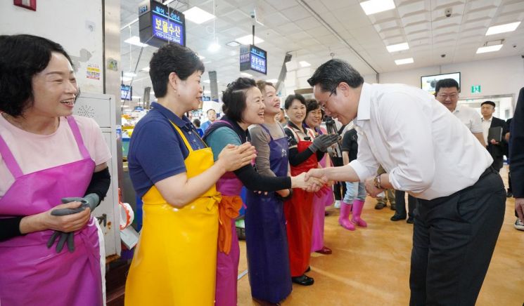
[[[307,80],[311,86],[319,84],[322,91],[334,93],[338,84],[345,82],[352,88],[364,84],[364,78],[345,60],[328,60],[315,70],[313,76]]]

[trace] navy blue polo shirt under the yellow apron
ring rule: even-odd
[[[193,149],[205,147],[186,116],[179,118],[162,105],[151,103],[151,110],[134,128],[127,155],[129,176],[139,197],[155,182],[186,172],[184,159],[189,151],[170,120],[184,133]]]

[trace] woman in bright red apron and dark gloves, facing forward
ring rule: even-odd
[[[338,140],[338,135],[324,134],[314,138],[314,132],[302,126],[306,115],[306,104],[302,95],[289,95],[284,107],[289,117],[284,130],[288,136],[291,175],[299,175],[317,168],[318,161],[324,157],[326,149]],[[305,272],[309,271],[311,255],[313,197],[312,192],[293,189],[293,197],[284,205],[291,280],[302,286],[314,283],[312,277],[305,275]]]

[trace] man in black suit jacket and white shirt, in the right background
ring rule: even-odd
[[[506,121],[493,117],[495,112],[495,102],[485,101],[480,105],[480,112],[483,115],[483,135],[484,140],[487,143],[487,151],[490,152],[491,157],[493,157],[492,166],[500,171],[502,168],[502,159],[504,158],[504,153],[506,152],[506,146],[508,143],[504,136],[508,133],[508,126]],[[490,128],[498,127],[502,128],[502,137],[500,141],[494,139],[487,139],[487,135],[490,131]]]

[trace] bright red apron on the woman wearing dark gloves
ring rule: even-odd
[[[300,140],[296,133],[295,137],[298,140],[299,153],[304,152],[312,144],[311,141]],[[317,163],[317,154],[314,153],[302,164],[291,166],[291,175],[299,175],[309,169],[317,168]],[[313,227],[313,196],[312,192],[293,188],[293,197],[284,205],[292,277],[300,277],[309,265]]]

